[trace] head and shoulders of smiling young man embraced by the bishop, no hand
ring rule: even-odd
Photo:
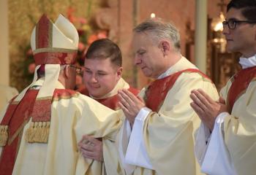
[[[118,109],[119,89],[128,89],[135,95],[138,90],[129,86],[121,78],[122,55],[118,45],[110,39],[93,42],[86,52],[83,82],[86,89],[82,93],[90,96],[110,109]]]

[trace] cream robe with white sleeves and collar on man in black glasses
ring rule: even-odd
[[[256,56],[240,63],[256,66]],[[254,61],[253,61],[254,60]],[[220,94],[227,101],[231,79]],[[203,123],[197,133],[197,159],[208,174],[254,175],[256,172],[256,81],[252,79],[246,91],[238,96],[231,114],[223,112],[210,134]],[[208,144],[206,145],[206,141]]]

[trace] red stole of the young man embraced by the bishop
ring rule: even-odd
[[[139,90],[135,88],[129,88],[128,90],[131,93],[133,93],[135,96],[137,96],[139,93]],[[81,90],[81,93],[85,96],[89,96],[89,91],[86,88]],[[108,108],[113,110],[117,110],[119,108],[118,106],[119,99],[117,94],[108,98],[94,99],[94,100],[98,101],[100,104],[107,106]]]

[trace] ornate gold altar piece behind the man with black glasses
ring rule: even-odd
[[[207,50],[207,72],[209,77],[220,90],[233,74],[241,69],[238,64],[239,53],[228,53],[226,50],[226,39],[222,34],[222,21],[225,20],[225,0],[217,4],[220,7],[219,16],[208,18],[208,50]]]

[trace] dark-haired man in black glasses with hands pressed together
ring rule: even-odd
[[[223,27],[228,52],[242,54],[242,70],[222,88],[219,101],[192,90],[191,106],[202,120],[195,152],[206,174],[255,174],[256,1],[230,1]]]

